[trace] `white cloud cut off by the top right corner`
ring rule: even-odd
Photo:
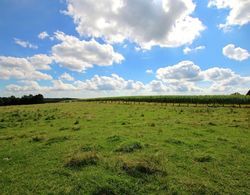
[[[228,30],[232,26],[243,26],[250,22],[249,0],[210,0],[208,7],[230,10],[226,23],[219,25],[224,30]]]

